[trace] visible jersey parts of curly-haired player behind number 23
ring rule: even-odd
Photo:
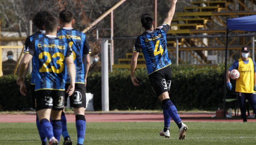
[[[24,50],[23,53],[25,53],[28,50],[28,46],[30,42],[32,42],[35,39],[42,38],[45,35],[45,30],[40,30],[33,35],[30,35],[26,38],[25,44],[24,44]],[[31,81],[30,84],[35,84],[35,58],[32,58],[32,72],[31,72]]]

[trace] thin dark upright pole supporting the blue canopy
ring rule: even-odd
[[[228,58],[228,29],[226,29],[226,51],[225,51],[225,71],[224,71],[224,101],[223,101],[223,110],[224,117],[226,117],[226,88],[227,88],[227,58]]]

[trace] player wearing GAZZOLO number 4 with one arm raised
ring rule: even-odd
[[[131,80],[135,86],[139,86],[139,81],[135,77],[135,68],[139,52],[142,51],[146,60],[150,83],[163,105],[164,129],[159,134],[160,136],[170,137],[169,128],[172,118],[179,128],[179,139],[183,140],[188,129],[187,125],[182,123],[177,109],[168,95],[172,77],[170,69],[172,63],[168,58],[166,34],[172,22],[177,0],[170,0],[170,2],[172,5],[164,23],[156,29],[153,28],[154,22],[149,14],[145,13],[141,16],[141,23],[145,32],[137,37],[134,44],[133,57],[131,59]]]

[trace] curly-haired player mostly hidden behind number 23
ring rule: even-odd
[[[23,53],[25,53],[28,50],[28,46],[29,46],[30,42],[44,36],[44,34],[45,34],[45,30],[43,30],[44,19],[48,16],[52,16],[52,15],[47,11],[40,11],[40,12],[36,13],[32,22],[33,22],[33,25],[39,29],[39,31],[26,38]],[[31,81],[30,81],[31,93],[30,94],[31,94],[31,100],[32,100],[32,108],[36,109],[36,104],[35,104],[35,62],[34,62],[34,59],[35,59],[35,57],[32,58],[32,73],[31,73]],[[28,69],[26,69],[24,71],[24,73],[23,73],[24,79],[23,79],[23,82],[21,82],[21,84],[20,84],[20,93],[23,96],[26,96],[25,93],[27,92],[26,85],[24,84],[24,80],[26,78],[27,71],[28,71]],[[39,132],[39,136],[41,138],[42,145],[47,145],[46,136],[41,131],[41,126],[40,126],[37,114],[36,114],[36,126],[37,126],[37,129]]]

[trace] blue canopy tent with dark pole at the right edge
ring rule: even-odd
[[[228,56],[228,32],[230,30],[241,30],[241,31],[254,31],[256,32],[256,15],[244,16],[240,18],[233,18],[227,20],[226,28],[226,52],[225,52],[225,74],[224,74],[224,116],[226,116],[225,100],[226,100],[226,73],[227,73],[227,56]],[[252,40],[252,59],[254,59],[254,38]]]

